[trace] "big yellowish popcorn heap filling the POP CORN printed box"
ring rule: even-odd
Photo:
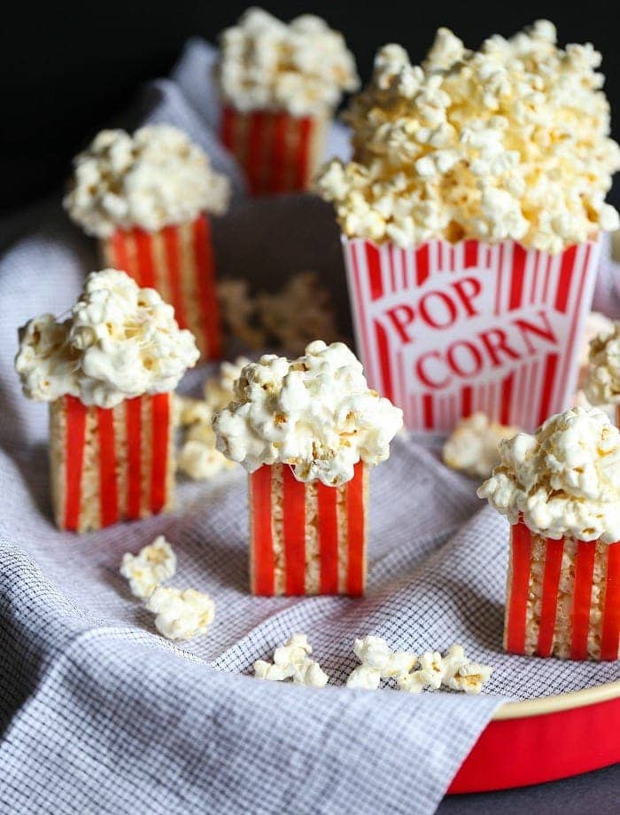
[[[353,104],[354,161],[318,188],[346,235],[401,247],[515,239],[557,253],[618,228],[604,202],[620,149],[588,44],[546,20],[479,51],[440,28],[422,66],[385,45]]]

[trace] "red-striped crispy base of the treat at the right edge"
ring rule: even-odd
[[[620,655],[620,542],[511,527],[504,647],[574,660]]]

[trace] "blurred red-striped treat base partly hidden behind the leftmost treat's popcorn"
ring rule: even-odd
[[[138,286],[157,289],[174,306],[181,328],[196,337],[200,356],[221,357],[211,225],[205,215],[159,231],[117,230],[102,241],[105,263],[126,271]]]

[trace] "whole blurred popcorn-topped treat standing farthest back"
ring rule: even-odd
[[[258,8],[220,35],[221,139],[250,192],[305,190],[355,61],[342,35],[304,14],[290,24]]]

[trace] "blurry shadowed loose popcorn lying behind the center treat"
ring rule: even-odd
[[[298,355],[317,337],[339,339],[329,292],[314,271],[292,275],[275,294],[260,292],[255,297],[245,280],[223,280],[218,295],[227,332],[249,349]]]

